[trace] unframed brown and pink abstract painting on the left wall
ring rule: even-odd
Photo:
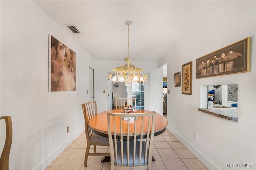
[[[76,91],[76,52],[49,35],[48,91]]]

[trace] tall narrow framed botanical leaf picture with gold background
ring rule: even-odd
[[[182,65],[182,94],[192,95],[192,61]]]

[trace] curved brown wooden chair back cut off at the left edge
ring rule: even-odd
[[[0,170],[9,170],[9,155],[12,146],[12,119],[10,116],[0,117],[5,120],[6,138],[0,159]]]

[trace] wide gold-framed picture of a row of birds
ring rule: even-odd
[[[196,59],[196,79],[250,71],[250,37]]]

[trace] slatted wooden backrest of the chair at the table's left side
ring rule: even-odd
[[[97,103],[96,101],[84,103],[82,104],[82,109],[84,113],[84,128],[86,133],[86,140],[90,141],[93,132],[88,122],[97,114]]]

